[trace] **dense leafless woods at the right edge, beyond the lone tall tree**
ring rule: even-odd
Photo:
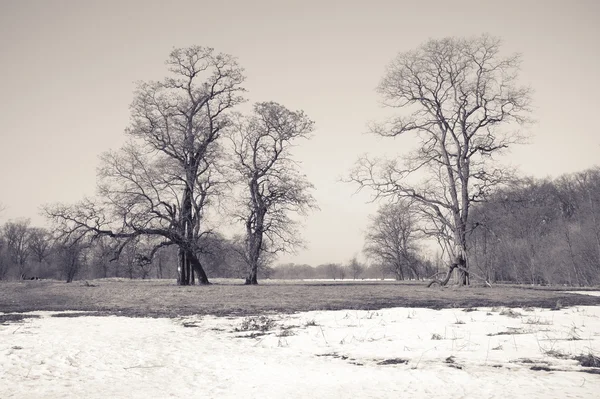
[[[522,179],[473,210],[469,255],[489,281],[600,283],[600,168]]]

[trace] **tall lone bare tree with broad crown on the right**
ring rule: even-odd
[[[403,163],[365,157],[351,174],[377,198],[419,204],[447,234],[457,259],[450,271],[459,268],[463,285],[469,283],[470,206],[506,180],[509,172],[494,156],[522,142],[520,131],[509,127],[528,122],[530,90],[517,85],[520,56],[502,56],[500,46],[499,39],[483,35],[430,40],[399,54],[378,90],[386,106],[405,113],[372,131],[383,137],[414,133],[420,144]],[[420,176],[426,177],[415,184]]]

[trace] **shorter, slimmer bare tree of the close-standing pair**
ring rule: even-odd
[[[300,240],[290,213],[316,208],[312,185],[291,159],[294,141],[307,138],[313,122],[302,111],[277,103],[259,103],[254,114],[240,119],[232,130],[234,168],[246,186],[243,212],[246,228],[246,284],[257,284],[265,253],[293,250]]]

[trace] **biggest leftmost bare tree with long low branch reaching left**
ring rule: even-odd
[[[174,49],[171,75],[139,83],[131,105],[131,142],[103,156],[100,200],[47,207],[64,236],[106,235],[122,250],[140,236],[154,238],[148,257],[160,248],[179,249],[178,284],[208,284],[198,254],[209,234],[205,214],[219,194],[219,138],[231,109],[243,101],[243,70],[213,49]]]

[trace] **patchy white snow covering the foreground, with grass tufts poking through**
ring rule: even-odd
[[[600,355],[600,307],[30,314],[39,318],[0,325],[0,398],[596,398],[600,388],[570,358]]]

